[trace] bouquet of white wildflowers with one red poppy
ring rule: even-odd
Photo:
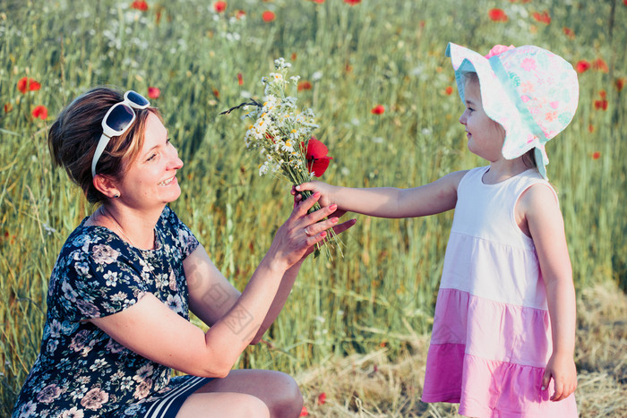
[[[231,107],[221,115],[240,107],[249,110],[242,116],[243,119],[253,121],[246,131],[245,144],[247,149],[257,149],[262,156],[259,175],[276,175],[296,185],[308,182],[314,176],[320,177],[333,158],[327,155],[327,147],[312,135],[318,127],[314,123],[314,111],[310,108],[299,111],[296,95],[288,96],[286,92],[291,87],[296,93],[299,80],[298,76],[288,78],[290,67],[291,64],[283,58],[274,61],[275,72],[262,78],[265,86],[264,103],[251,99],[250,102]],[[301,194],[306,199],[311,192]],[[317,209],[320,209],[320,205],[316,202],[312,210]],[[333,229],[329,233],[322,243],[327,255],[331,257],[329,246],[337,246],[341,254],[339,237]],[[316,256],[320,249],[321,246],[317,248]]]

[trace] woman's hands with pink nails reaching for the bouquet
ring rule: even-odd
[[[274,260],[284,263],[286,270],[314,252],[315,244],[328,235],[327,229],[332,227],[336,234],[340,234],[356,223],[356,219],[351,219],[338,224],[337,216],[322,220],[338,209],[335,204],[323,206],[322,209],[307,214],[321,197],[320,192],[314,192],[306,200],[297,199],[288,220],[279,227],[274,236],[268,254]]]

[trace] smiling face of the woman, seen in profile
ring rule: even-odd
[[[159,117],[148,116],[142,150],[117,184],[120,200],[137,209],[160,208],[181,195],[176,171],[183,166]]]

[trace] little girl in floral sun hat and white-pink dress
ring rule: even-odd
[[[571,122],[570,64],[533,46],[449,44],[468,149],[489,165],[413,189],[311,182],[322,204],[382,218],[455,209],[427,355],[425,402],[469,416],[577,416],[575,294],[545,142]]]

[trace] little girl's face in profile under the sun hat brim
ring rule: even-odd
[[[500,124],[485,115],[477,79],[467,79],[464,98],[466,99],[466,110],[460,116],[460,124],[466,127],[468,149],[473,154],[490,162],[501,159],[505,131]]]

